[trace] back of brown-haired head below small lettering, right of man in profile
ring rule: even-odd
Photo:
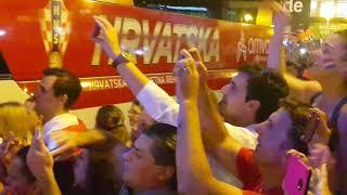
[[[129,135],[124,122],[124,114],[117,106],[104,105],[98,110],[95,128],[108,131],[118,141],[126,143],[129,140]]]

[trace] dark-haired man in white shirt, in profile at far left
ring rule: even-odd
[[[36,110],[43,116],[43,141],[50,151],[55,148],[50,133],[74,126],[74,130],[86,129],[85,125],[69,108],[77,101],[81,91],[79,79],[65,69],[48,68],[35,91]]]

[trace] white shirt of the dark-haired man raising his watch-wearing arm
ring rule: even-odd
[[[179,104],[153,81],[146,83],[137,95],[137,100],[144,109],[157,122],[178,126]],[[243,147],[255,148],[257,145],[257,133],[250,129],[236,127],[224,122],[230,136],[235,139]],[[219,180],[241,187],[242,183],[229,173],[216,159],[209,157],[213,172]]]

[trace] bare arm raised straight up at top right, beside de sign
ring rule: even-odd
[[[280,3],[273,0],[267,2],[267,6],[273,11],[273,35],[269,43],[267,67],[270,69],[277,69],[283,74],[290,86],[291,96],[301,102],[310,103],[311,98],[322,91],[322,88],[317,81],[301,80],[286,73],[283,38],[286,28],[290,25],[290,14],[281,6]]]

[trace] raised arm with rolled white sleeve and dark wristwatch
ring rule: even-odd
[[[117,31],[104,17],[95,16],[94,18],[104,36],[103,39],[95,39],[95,41],[102,46],[111,58],[115,60],[121,53]],[[171,96],[150,81],[132,62],[119,64],[116,68],[152,118],[158,122],[177,126],[179,106]]]

